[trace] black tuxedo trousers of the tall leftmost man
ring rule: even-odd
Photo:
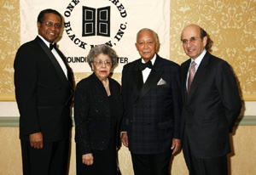
[[[35,149],[21,140],[23,175],[65,175],[68,170],[69,137],[56,142],[44,142]]]

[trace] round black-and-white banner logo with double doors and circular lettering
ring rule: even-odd
[[[96,1],[88,5],[86,1],[81,4],[79,0],[72,0],[64,11],[64,32],[79,48],[90,50],[99,44],[113,47],[125,35],[127,13],[124,5],[119,0],[98,0],[96,4],[100,1],[104,4],[110,3],[110,5],[91,7]],[[73,18],[73,14],[80,14],[81,18]]]

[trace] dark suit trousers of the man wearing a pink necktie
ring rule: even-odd
[[[189,175],[228,175],[227,155],[198,158],[191,153],[186,129],[183,135],[183,155]]]

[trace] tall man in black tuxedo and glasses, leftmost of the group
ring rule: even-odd
[[[15,57],[23,174],[67,174],[73,75],[61,51],[50,47],[61,24],[57,11],[41,11],[38,37]]]

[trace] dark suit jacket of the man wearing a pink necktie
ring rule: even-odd
[[[207,52],[187,95],[190,62],[191,59],[181,65],[182,132],[186,131],[187,143],[195,157],[226,155],[230,153],[229,133],[241,110],[236,78],[227,62]]]

